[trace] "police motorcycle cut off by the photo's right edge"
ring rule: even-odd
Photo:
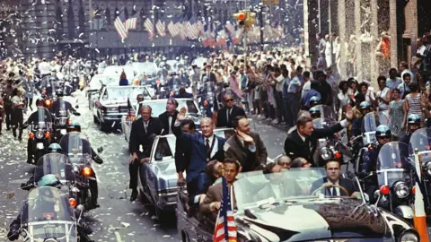
[[[418,151],[418,159],[415,159],[416,151]],[[429,214],[431,212],[431,128],[421,128],[411,134],[409,155],[411,160],[415,160],[415,164],[419,162],[425,208]]]

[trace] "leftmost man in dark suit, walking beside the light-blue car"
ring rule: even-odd
[[[151,107],[143,105],[139,108],[141,117],[132,123],[130,131],[130,141],[128,150],[132,154],[128,173],[130,174],[129,188],[132,189],[130,201],[136,200],[137,197],[137,174],[140,165],[147,162],[150,157],[151,148],[153,147],[154,137],[162,134],[162,125],[156,117],[151,117]]]

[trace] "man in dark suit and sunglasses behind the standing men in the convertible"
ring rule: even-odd
[[[235,117],[245,117],[245,111],[233,104],[233,95],[224,95],[224,107],[217,112],[217,127],[232,127]]]

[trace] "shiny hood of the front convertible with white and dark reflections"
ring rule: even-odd
[[[309,200],[252,209],[239,219],[269,241],[383,238],[391,234],[380,212],[372,212],[351,199]]]

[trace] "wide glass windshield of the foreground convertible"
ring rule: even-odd
[[[324,169],[290,169],[272,174],[244,176],[233,183],[238,210],[294,198],[318,197]]]

